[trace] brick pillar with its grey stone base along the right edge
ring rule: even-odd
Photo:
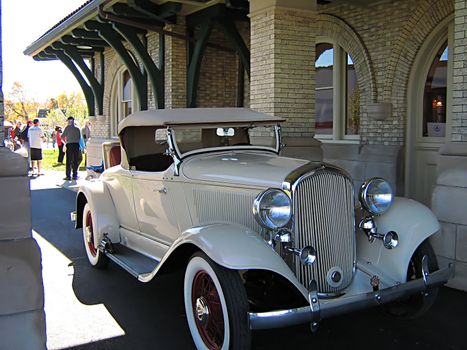
[[[456,264],[449,287],[467,291],[467,4],[455,0],[452,120],[448,142],[440,148],[431,206],[441,223],[432,239],[440,266]]]

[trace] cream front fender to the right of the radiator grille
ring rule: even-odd
[[[373,265],[392,279],[392,283],[405,282],[410,258],[424,240],[439,231],[438,219],[423,204],[397,197],[391,209],[376,217],[375,222],[379,233],[395,231],[399,235],[399,245],[389,250],[381,240],[370,243],[364,233],[358,232],[358,260],[363,265]]]

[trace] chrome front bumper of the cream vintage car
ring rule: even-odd
[[[319,299],[312,281],[309,288],[310,306],[296,309],[249,313],[251,329],[269,329],[292,326],[302,323],[316,324],[324,318],[350,313],[368,307],[386,304],[397,299],[426,291],[430,287],[442,285],[454,275],[454,265],[428,273],[428,260],[422,262],[423,278],[399,284],[378,291],[341,296],[334,299]]]

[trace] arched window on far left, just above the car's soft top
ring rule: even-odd
[[[122,67],[116,74],[112,87],[112,136],[117,136],[118,123],[137,110],[136,93],[130,72]]]

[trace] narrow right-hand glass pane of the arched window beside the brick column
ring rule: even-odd
[[[358,135],[360,127],[360,90],[357,85],[357,73],[350,55],[347,56],[347,91],[345,115],[345,134]]]

